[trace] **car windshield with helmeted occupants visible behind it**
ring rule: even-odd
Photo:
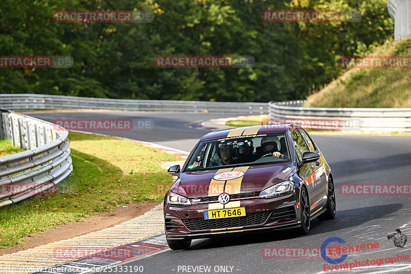
[[[286,134],[235,136],[201,142],[184,172],[288,162]]]

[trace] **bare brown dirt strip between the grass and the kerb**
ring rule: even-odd
[[[98,217],[88,218],[85,222],[61,225],[44,233],[34,234],[15,246],[0,248],[0,256],[5,254],[45,245],[52,242],[71,239],[83,234],[111,227],[140,216],[159,203],[126,204],[117,207],[114,212],[103,213]]]

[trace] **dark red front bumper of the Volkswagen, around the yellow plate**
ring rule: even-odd
[[[263,229],[286,229],[300,226],[298,216],[298,188],[284,197],[242,200],[245,217],[204,220],[209,204],[170,207],[164,204],[165,234],[167,239],[210,238],[227,233]],[[222,205],[221,205],[222,206]]]

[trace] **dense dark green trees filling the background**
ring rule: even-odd
[[[302,2],[302,3],[300,3]],[[341,55],[392,36],[386,0],[2,0],[2,55],[71,55],[72,68],[3,68],[1,93],[281,101],[339,76]],[[267,23],[267,9],[360,10],[359,23]],[[150,10],[151,23],[56,23],[57,10]],[[252,55],[252,68],[157,68],[158,55]]]

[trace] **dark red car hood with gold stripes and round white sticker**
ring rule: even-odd
[[[250,166],[248,168],[240,167],[234,170],[247,170],[239,178],[227,181],[213,179],[216,174],[230,171],[231,169],[182,172],[180,179],[173,185],[171,191],[181,193],[183,189],[189,198],[219,195],[222,192],[233,194],[261,191],[276,183],[287,180],[290,173],[294,170],[294,164],[279,163],[275,165]],[[238,176],[241,172],[236,174]]]

